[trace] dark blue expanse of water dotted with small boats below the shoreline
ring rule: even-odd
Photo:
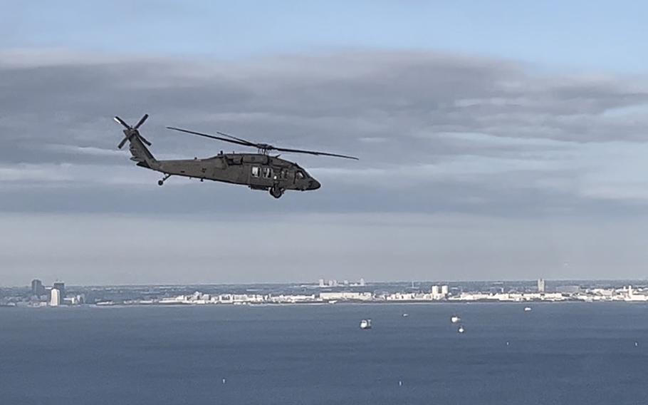
[[[644,403],[648,305],[523,307],[1,309],[0,404]]]

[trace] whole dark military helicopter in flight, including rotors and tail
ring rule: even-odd
[[[268,190],[274,198],[280,198],[286,190],[317,190],[320,188],[320,182],[315,180],[297,163],[281,159],[279,155],[268,155],[272,150],[357,160],[354,156],[337,155],[335,153],[277,148],[267,143],[254,143],[222,132],[216,132],[217,135],[210,135],[175,127],[167,128],[204,138],[249,146],[256,148],[257,153],[223,153],[221,150],[218,155],[211,158],[157,160],[147,148],[151,143],[140,134],[139,130],[148,117],[148,114],[145,114],[135,126],[131,126],[115,116],[115,121],[125,128],[123,130],[124,139],[117,145],[117,148],[121,149],[126,142],[129,142],[130,154],[132,155],[130,160],[137,162],[137,165],[142,168],[164,173],[164,178],[157,182],[158,185],[164,185],[167,179],[176,175],[197,178],[200,181],[214,180],[223,183],[247,185],[252,190]]]

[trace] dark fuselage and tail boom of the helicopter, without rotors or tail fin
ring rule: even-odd
[[[220,153],[211,158],[153,160],[140,166],[167,175],[247,185],[255,190],[317,190],[320,183],[298,164],[261,153]]]

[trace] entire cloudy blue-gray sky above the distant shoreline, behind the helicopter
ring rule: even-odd
[[[0,3],[0,286],[648,277],[645,2]],[[360,160],[160,188],[144,113]]]

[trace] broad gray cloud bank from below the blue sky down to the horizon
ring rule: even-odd
[[[643,277],[646,81],[434,52],[0,51],[0,277]],[[323,187],[280,200],[182,178],[160,188],[116,148],[112,117],[143,113],[158,158],[234,149],[164,130],[177,125],[360,161],[283,155]]]

